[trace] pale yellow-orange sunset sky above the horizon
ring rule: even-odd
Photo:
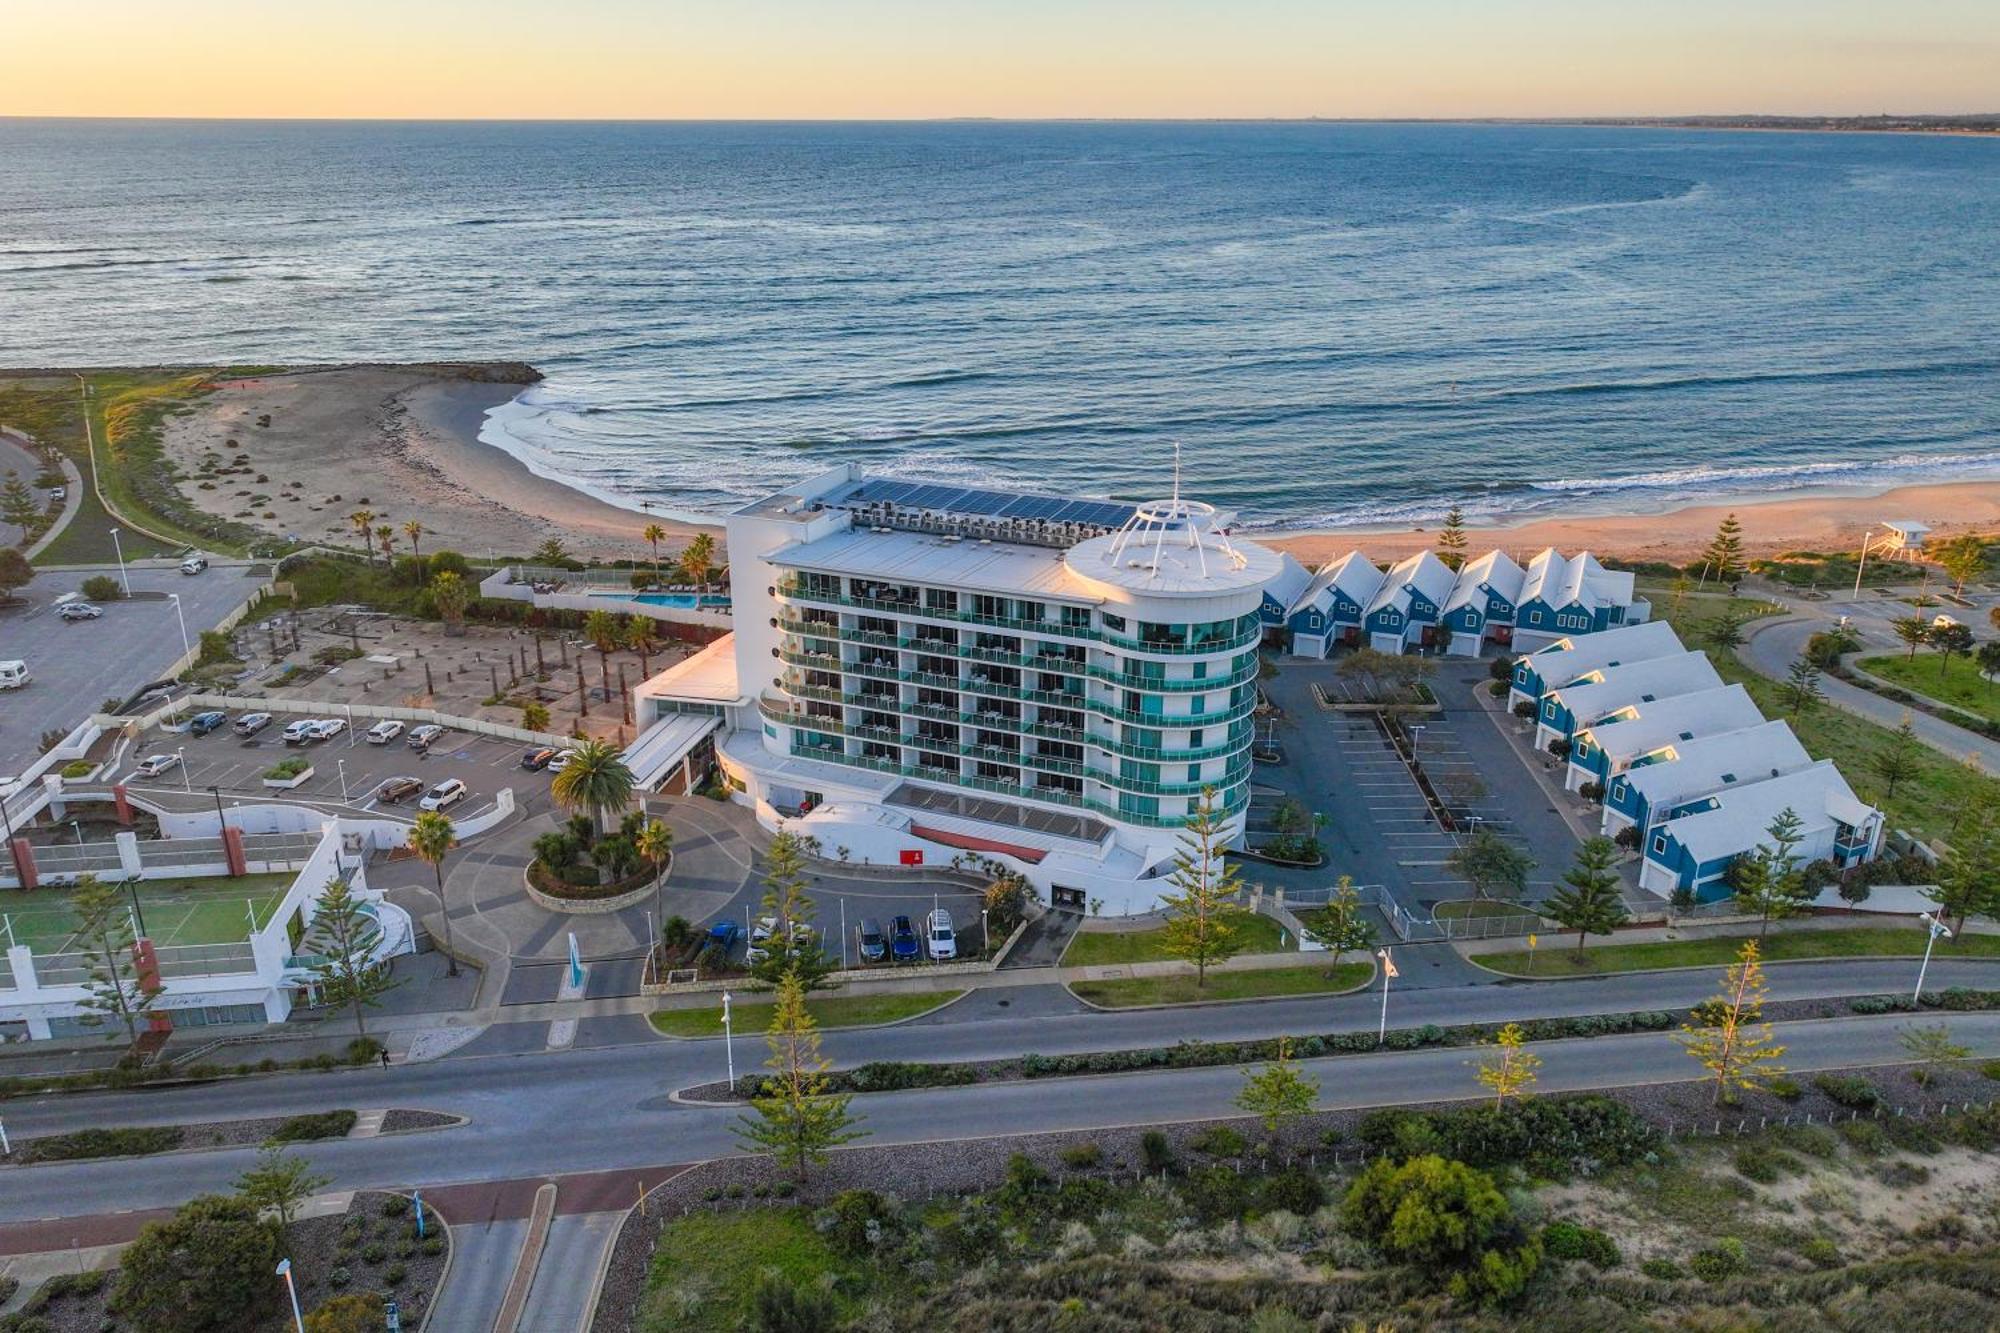
[[[1996,0],[0,0],[0,114],[2000,110]]]

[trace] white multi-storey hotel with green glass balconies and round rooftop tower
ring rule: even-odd
[[[720,713],[726,781],[826,855],[976,851],[1142,911],[1204,789],[1240,829],[1280,560],[1212,506],[850,464],[734,512],[728,556],[732,638],[642,695]]]

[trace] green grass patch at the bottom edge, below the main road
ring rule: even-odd
[[[834,1275],[840,1319],[860,1313],[868,1271],[842,1259],[812,1229],[804,1209],[756,1207],[690,1213],[660,1231],[652,1271],[640,1297],[640,1333],[736,1333],[756,1323],[756,1287],[764,1273],[794,1285]]]

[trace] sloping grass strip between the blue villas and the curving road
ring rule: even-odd
[[[1670,620],[1690,646],[1704,648],[1708,660],[1716,664],[1716,675],[1726,685],[1742,685],[1756,707],[1764,711],[1764,717],[1782,719],[1792,725],[1798,743],[1806,747],[1808,755],[1814,759],[1832,759],[1862,801],[1888,811],[1890,829],[1908,829],[1920,837],[1936,839],[1950,833],[1952,825],[1960,821],[1962,811],[1974,805],[1986,809],[2000,807],[2000,781],[1966,769],[1956,755],[1944,755],[1928,747],[1918,751],[1916,777],[1898,783],[1896,795],[1890,797],[1886,785],[1874,773],[1874,757],[1886,751],[1894,737],[1890,727],[1868,723],[1832,705],[1820,705],[1796,717],[1788,715],[1784,701],[1778,697],[1780,685],[1776,681],[1744,666],[1734,650],[1710,648],[1700,642],[1700,626],[1704,622],[1724,610],[1728,614],[1746,614],[1746,608],[1764,606],[1764,602],[1688,596],[1676,614],[1670,588],[1650,586],[1646,592],[1652,596],[1654,614]],[[1930,671],[1936,675],[1936,662],[1932,662]]]

